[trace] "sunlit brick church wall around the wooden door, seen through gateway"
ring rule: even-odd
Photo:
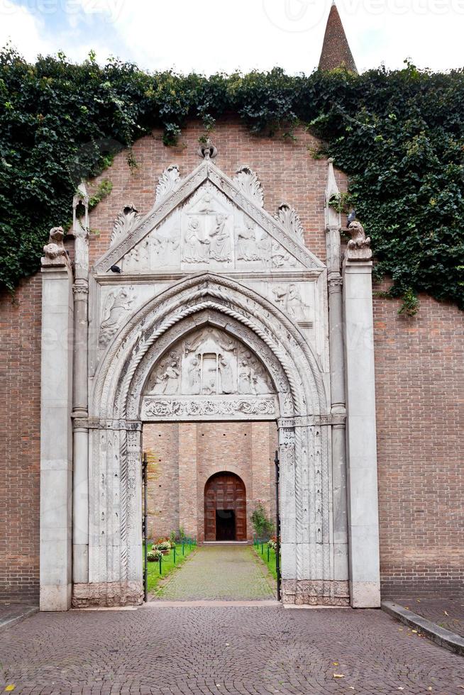
[[[148,533],[184,533],[204,540],[204,488],[221,471],[236,473],[245,484],[247,536],[253,538],[251,513],[263,502],[275,517],[274,452],[277,427],[267,422],[147,424]],[[179,473],[180,471],[180,473]]]

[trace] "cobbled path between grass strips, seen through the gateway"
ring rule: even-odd
[[[272,577],[250,545],[202,545],[153,595],[168,601],[272,599]]]

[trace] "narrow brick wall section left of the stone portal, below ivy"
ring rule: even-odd
[[[0,296],[0,599],[38,601],[40,274]]]

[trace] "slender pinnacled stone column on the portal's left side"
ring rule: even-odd
[[[79,217],[79,209],[83,218]],[[72,579],[75,583],[89,579],[89,430],[88,415],[88,301],[89,301],[89,196],[84,184],[73,201],[74,235],[74,419]]]

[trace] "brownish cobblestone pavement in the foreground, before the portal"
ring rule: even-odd
[[[14,695],[464,692],[463,657],[350,608],[38,613],[0,633],[0,661]]]

